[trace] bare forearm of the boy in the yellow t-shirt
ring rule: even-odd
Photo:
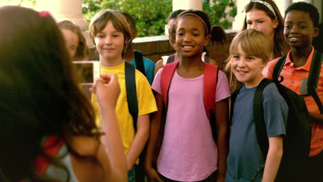
[[[133,165],[139,158],[139,155],[141,154],[142,150],[144,150],[144,146],[149,136],[149,122],[149,114],[138,116],[137,132],[135,134],[135,138],[133,139],[133,143],[131,144],[129,152],[126,156],[128,169],[133,168]]]

